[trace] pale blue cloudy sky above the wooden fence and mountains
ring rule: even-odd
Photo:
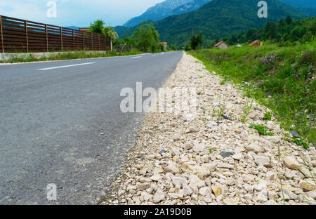
[[[0,0],[0,15],[62,27],[88,27],[97,19],[104,20],[107,25],[117,26],[162,1],[55,0],[56,18],[48,18],[47,12],[53,7],[47,6],[48,0]]]

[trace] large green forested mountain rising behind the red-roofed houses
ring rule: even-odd
[[[257,0],[213,0],[196,11],[170,16],[154,22],[161,41],[184,46],[192,34],[202,32],[205,43],[213,43],[218,37],[262,27],[266,22],[275,22],[291,15],[305,18],[295,8],[277,0],[265,0],[268,4],[268,18],[258,18]]]

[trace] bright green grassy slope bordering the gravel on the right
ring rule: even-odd
[[[270,108],[282,127],[315,146],[316,41],[301,46],[190,51],[206,69]]]

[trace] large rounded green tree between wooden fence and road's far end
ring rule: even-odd
[[[159,33],[154,29],[154,25],[148,22],[142,22],[142,25],[133,32],[131,40],[133,46],[136,46],[140,51],[157,51],[159,48]]]

